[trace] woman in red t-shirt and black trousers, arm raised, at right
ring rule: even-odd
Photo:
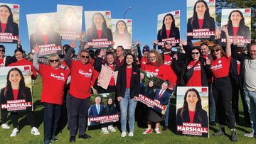
[[[215,105],[217,106],[217,114],[220,121],[220,129],[213,135],[224,135],[225,133],[225,122],[231,128],[231,140],[237,141],[237,135],[235,133],[235,116],[231,108],[232,99],[232,86],[230,77],[228,77],[231,60],[231,47],[230,38],[228,35],[228,29],[223,26],[222,31],[225,32],[227,38],[227,45],[225,52],[220,45],[213,45],[210,52],[213,61],[210,63],[210,70],[213,73],[213,97]]]

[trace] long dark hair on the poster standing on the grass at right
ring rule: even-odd
[[[183,103],[183,107],[181,109],[181,118],[182,119],[184,117],[186,117],[186,111],[188,112],[188,102],[186,101],[186,98],[188,96],[188,92],[195,92],[196,96],[198,97],[198,101],[196,102],[196,113],[200,113],[203,110],[202,109],[202,104],[201,104],[201,97],[199,95],[199,92],[194,88],[188,89],[185,93],[184,103]],[[201,118],[200,114],[197,115],[197,118],[198,118],[199,121],[202,121],[202,118]]]

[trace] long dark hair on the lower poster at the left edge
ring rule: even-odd
[[[7,77],[6,77],[6,88],[4,89],[4,96],[7,96],[7,92],[9,92],[10,90],[12,90],[11,88],[11,82],[9,80],[9,77],[10,77],[10,73],[12,71],[16,70],[18,72],[18,74],[20,74],[21,76],[21,81],[19,82],[19,90],[21,91],[21,95],[26,98],[26,94],[23,92],[23,90],[25,89],[26,87],[26,84],[25,84],[25,80],[24,80],[24,76],[21,72],[21,70],[19,70],[18,68],[14,67],[14,68],[11,68],[11,70],[9,70],[9,72],[7,73]]]

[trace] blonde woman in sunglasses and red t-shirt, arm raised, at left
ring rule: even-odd
[[[57,54],[50,55],[49,65],[38,65],[39,45],[35,45],[34,50],[33,66],[41,74],[43,84],[41,102],[45,107],[43,115],[44,143],[50,143],[51,140],[57,140],[55,135],[63,105],[64,88],[70,70],[60,68],[60,57]]]

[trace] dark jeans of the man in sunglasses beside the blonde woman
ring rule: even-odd
[[[75,136],[77,128],[79,131],[79,135],[85,134],[89,102],[90,102],[90,97],[86,99],[78,99],[70,94],[69,96],[70,136]]]

